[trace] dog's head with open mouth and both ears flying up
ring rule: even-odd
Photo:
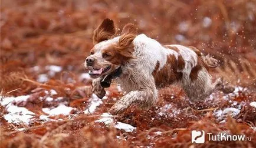
[[[116,34],[114,22],[104,19],[93,32],[94,47],[84,65],[89,70],[91,78],[108,75],[133,58],[133,39],[136,37],[136,27],[129,23],[124,26],[121,36]]]

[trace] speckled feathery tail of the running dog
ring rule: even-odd
[[[209,54],[205,56],[201,51],[199,51],[199,49],[193,46],[189,46],[189,48],[191,48],[196,53],[196,55],[201,57],[205,65],[208,66],[209,68],[216,68],[219,66],[219,61],[214,57],[210,56]]]

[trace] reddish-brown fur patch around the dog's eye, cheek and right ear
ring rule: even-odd
[[[123,65],[133,58],[134,46],[132,41],[135,37],[136,35],[131,33],[120,36],[117,44],[110,45],[102,51],[103,55],[107,55],[103,56],[103,58],[115,65]]]

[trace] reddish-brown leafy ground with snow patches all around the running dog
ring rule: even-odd
[[[1,1],[1,147],[255,147],[255,1]],[[149,110],[108,110],[115,83],[99,99],[83,63],[104,19],[163,44],[195,46],[221,66],[213,79],[235,91],[192,105],[179,86],[159,90]],[[191,142],[192,130],[244,134],[245,141]]]

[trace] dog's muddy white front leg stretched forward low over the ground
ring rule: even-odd
[[[140,107],[149,109],[157,101],[156,89],[133,90],[118,100],[109,110],[111,115],[124,112],[132,103],[137,103]]]

